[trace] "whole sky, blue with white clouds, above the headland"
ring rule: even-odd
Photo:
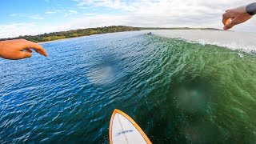
[[[223,12],[247,3],[244,0],[1,0],[0,38],[113,25],[222,29]],[[256,31],[255,25],[253,19],[234,30]]]

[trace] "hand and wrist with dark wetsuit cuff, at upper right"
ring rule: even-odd
[[[232,10],[226,10],[222,15],[223,29],[229,30],[235,25],[248,21],[253,15],[256,14],[256,2],[247,6],[240,6]]]

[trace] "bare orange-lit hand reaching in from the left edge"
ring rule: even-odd
[[[0,57],[13,60],[30,58],[32,56],[32,50],[30,49],[34,49],[45,57],[47,56],[46,50],[37,43],[17,39],[0,42]]]

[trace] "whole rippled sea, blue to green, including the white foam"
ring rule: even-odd
[[[47,58],[0,59],[0,143],[109,143],[115,108],[153,143],[255,143],[251,35],[146,32],[49,42]]]

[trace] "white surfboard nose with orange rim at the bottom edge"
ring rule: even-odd
[[[115,109],[110,120],[110,144],[151,144],[143,130],[129,115]]]

